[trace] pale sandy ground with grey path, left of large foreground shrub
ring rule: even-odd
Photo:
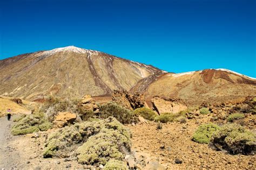
[[[39,138],[33,138],[34,134],[12,136],[12,124],[6,117],[0,118],[0,169],[83,169],[76,160],[43,158],[46,132],[39,132]]]

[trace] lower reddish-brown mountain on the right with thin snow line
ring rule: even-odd
[[[227,69],[205,69],[180,74],[165,73],[152,82],[140,80],[131,91],[143,93],[147,101],[153,96],[181,98],[187,104],[256,96],[256,80]],[[144,86],[142,86],[144,84]],[[160,88],[159,88],[160,87]]]

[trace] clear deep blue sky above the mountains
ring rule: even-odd
[[[168,72],[256,77],[254,0],[0,2],[0,59],[74,45]]]

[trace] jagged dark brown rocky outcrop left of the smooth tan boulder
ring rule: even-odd
[[[130,110],[142,107],[148,108],[143,95],[139,93],[131,94],[126,90],[114,90],[112,101]]]

